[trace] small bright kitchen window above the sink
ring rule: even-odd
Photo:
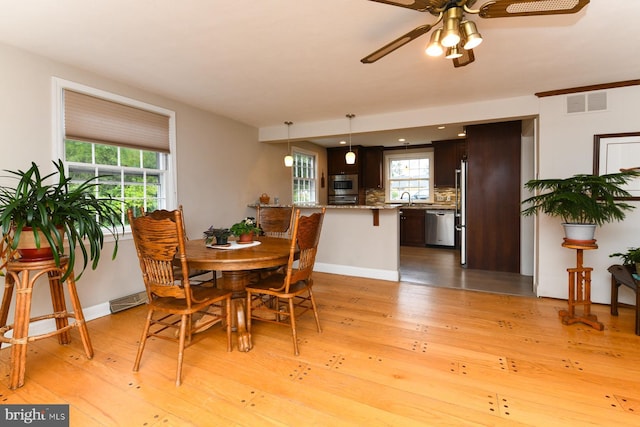
[[[388,202],[408,202],[408,193],[412,202],[425,203],[431,200],[433,152],[408,152],[385,156],[387,182],[386,200]],[[404,198],[403,198],[404,196]]]

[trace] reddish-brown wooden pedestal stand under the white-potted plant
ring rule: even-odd
[[[574,323],[584,323],[592,328],[602,331],[604,325],[598,322],[598,318],[591,314],[591,272],[593,268],[584,267],[583,251],[590,249],[598,249],[595,240],[578,241],[564,239],[562,246],[576,251],[576,267],[567,268],[569,273],[569,298],[568,310],[560,310],[558,315],[565,325]],[[576,315],[576,306],[582,305],[582,315]]]

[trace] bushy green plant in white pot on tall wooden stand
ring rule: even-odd
[[[636,171],[625,171],[607,175],[578,174],[565,179],[532,179],[525,183],[529,191],[547,192],[524,200],[522,203],[530,206],[522,214],[543,212],[560,217],[567,239],[590,241],[596,226],[621,221],[625,211],[635,208],[620,199],[631,196],[622,186],[639,176]]]

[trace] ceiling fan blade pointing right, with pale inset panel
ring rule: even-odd
[[[562,15],[579,12],[589,0],[495,0],[480,6],[482,18]]]

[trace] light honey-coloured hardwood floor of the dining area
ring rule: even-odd
[[[225,351],[219,327],[185,351],[150,340],[132,372],[145,307],[29,344],[26,384],[2,404],[70,405],[72,426],[585,426],[640,425],[640,337],[634,311],[596,305],[605,324],[563,325],[560,300],[315,274],[323,332],[299,319],[256,322],[254,348]]]

